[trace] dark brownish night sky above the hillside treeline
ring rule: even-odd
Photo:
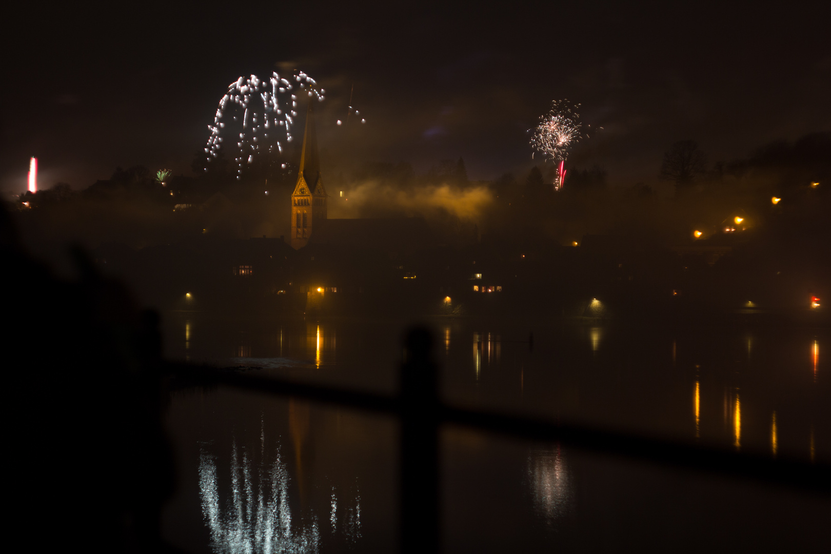
[[[471,179],[523,174],[553,99],[602,126],[568,164],[656,182],[694,139],[711,162],[831,130],[831,9],[820,2],[38,4],[6,12],[0,190],[81,189],[116,166],[191,174],[238,76],[301,69],[327,89],[324,171],[463,156]],[[353,105],[367,123],[335,121]]]

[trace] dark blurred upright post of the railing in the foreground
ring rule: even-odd
[[[425,328],[406,336],[401,365],[401,552],[439,550],[438,371]]]

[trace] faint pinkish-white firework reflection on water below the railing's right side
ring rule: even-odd
[[[532,451],[528,476],[534,509],[546,522],[552,523],[568,513],[572,503],[571,478],[559,446]]]

